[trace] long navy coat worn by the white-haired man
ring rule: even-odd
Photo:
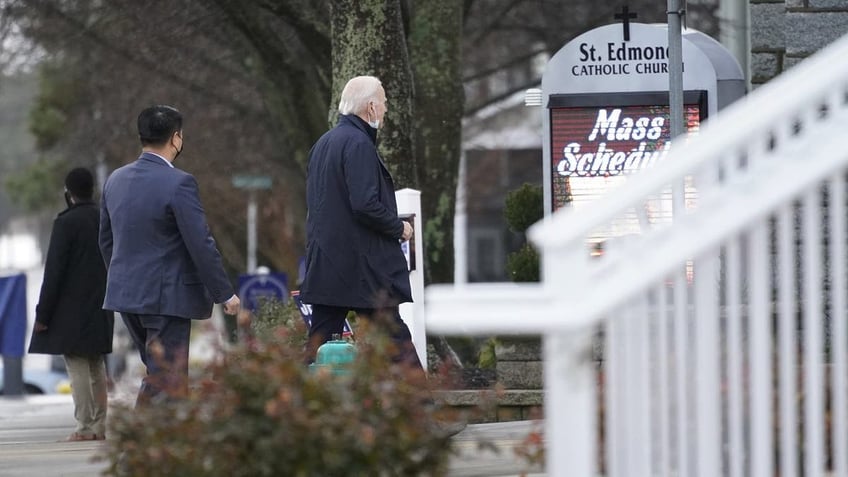
[[[379,308],[412,301],[395,186],[376,131],[341,116],[309,153],[304,303]]]

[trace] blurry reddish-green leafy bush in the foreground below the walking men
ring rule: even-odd
[[[433,380],[388,363],[390,341],[368,323],[350,378],[310,372],[292,310],[264,308],[246,343],[221,352],[185,399],[116,407],[106,474],[445,475],[453,449],[438,423],[453,416],[430,399]]]

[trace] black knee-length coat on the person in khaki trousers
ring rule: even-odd
[[[74,204],[53,221],[30,353],[97,356],[112,351],[114,316],[103,310],[106,268],[97,248],[100,214],[92,202]]]

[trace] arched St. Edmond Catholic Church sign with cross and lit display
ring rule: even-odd
[[[542,77],[545,210],[591,207],[628,175],[658,167],[671,147],[666,25],[630,23],[624,11],[612,24],[588,31],[551,58]],[[745,93],[738,63],[700,32],[683,34],[686,131]],[[692,204],[694,188],[685,188]],[[648,219],[671,214],[671,192],[647,204]],[[635,217],[589,237],[637,233]]]

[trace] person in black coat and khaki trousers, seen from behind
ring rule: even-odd
[[[93,195],[88,169],[68,173],[68,208],[53,222],[29,345],[30,353],[64,355],[77,420],[69,441],[106,435],[104,354],[112,352],[114,320],[112,312],[103,310],[106,267],[97,245],[100,213]]]

